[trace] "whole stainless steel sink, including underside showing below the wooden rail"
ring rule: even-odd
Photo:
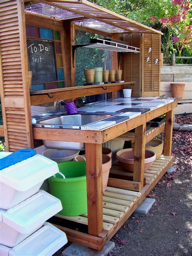
[[[104,120],[111,115],[90,115],[90,114],[77,114],[77,115],[61,115],[59,117],[48,118],[37,121],[33,124],[35,127],[45,128],[74,128],[80,129],[80,126],[92,124],[94,122]],[[50,149],[70,149],[70,150],[83,150],[85,143],[68,142],[68,141],[51,141],[43,140],[45,147]]]

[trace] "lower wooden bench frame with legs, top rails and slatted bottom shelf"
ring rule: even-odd
[[[55,141],[85,143],[88,212],[82,216],[58,215],[58,217],[88,225],[88,234],[56,225],[67,234],[70,241],[102,250],[103,245],[113,237],[169,169],[174,160],[171,156],[171,140],[175,107],[177,101],[99,131],[33,128],[34,139],[49,138]],[[146,133],[146,122],[164,113],[165,124]],[[107,190],[102,194],[102,143],[116,137],[121,139],[121,136],[125,139],[128,136],[127,132],[133,128],[135,128],[133,181],[109,177]],[[165,131],[164,155],[144,173],[145,143],[162,131]],[[115,174],[130,175],[118,164],[113,165],[110,171]],[[145,186],[143,186],[144,177]]]

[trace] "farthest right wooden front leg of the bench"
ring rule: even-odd
[[[165,139],[164,139],[164,156],[171,156],[171,144],[173,134],[173,109],[166,113],[165,117]]]

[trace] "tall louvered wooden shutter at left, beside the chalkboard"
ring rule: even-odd
[[[7,151],[33,147],[24,5],[0,1],[0,85]]]

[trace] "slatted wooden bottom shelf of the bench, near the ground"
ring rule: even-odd
[[[151,167],[145,171],[144,177],[146,177],[146,185],[141,190],[141,192],[135,192],[132,190],[120,189],[107,187],[105,192],[103,192],[103,231],[99,235],[104,240],[111,239],[111,237],[116,233],[118,228],[124,223],[126,219],[134,212],[137,206],[143,201],[143,199],[149,194],[152,188],[158,183],[164,173],[169,169],[173,163],[173,156],[160,156],[158,160],[155,160]],[[133,175],[133,173],[128,173],[122,169],[119,164],[114,164],[110,170],[111,173],[124,173],[127,175]],[[87,225],[87,214],[81,216],[63,216],[60,214],[55,215],[58,218],[65,220],[70,220],[73,222],[78,222],[81,224]],[[119,227],[118,227],[119,226]],[[68,230],[63,228],[68,235]],[[118,227],[118,228],[117,228]],[[73,230],[75,233],[76,231]],[[85,235],[84,233],[78,232],[81,234],[82,239]],[[74,237],[68,238],[70,241],[75,241],[76,235]]]

